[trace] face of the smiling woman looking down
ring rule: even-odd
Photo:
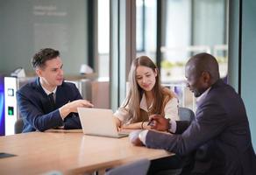
[[[154,70],[147,66],[138,66],[136,69],[136,81],[139,87],[145,91],[151,91],[155,84],[155,78],[157,76],[157,70]]]

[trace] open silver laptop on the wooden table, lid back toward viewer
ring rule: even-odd
[[[85,135],[99,137],[127,137],[128,133],[119,133],[111,109],[77,108],[82,132]]]

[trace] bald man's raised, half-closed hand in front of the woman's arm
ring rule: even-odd
[[[169,129],[169,119],[163,116],[149,116],[149,121],[153,121],[152,124],[150,124],[153,130],[167,131]]]

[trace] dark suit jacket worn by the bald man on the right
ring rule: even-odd
[[[256,174],[256,158],[244,102],[231,86],[217,81],[198,104],[192,123],[177,121],[172,136],[148,131],[146,146],[188,155],[196,151],[193,172]]]

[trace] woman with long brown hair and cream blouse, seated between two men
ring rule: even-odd
[[[153,114],[180,119],[176,95],[161,86],[159,69],[148,57],[132,61],[129,87],[128,96],[114,114],[118,128],[150,129],[148,119]]]

